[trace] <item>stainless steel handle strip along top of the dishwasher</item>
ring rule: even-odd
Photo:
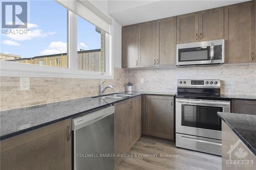
[[[72,118],[72,130],[76,131],[80,128],[91,125],[92,123],[109,116],[115,112],[114,106],[105,107],[82,116]]]

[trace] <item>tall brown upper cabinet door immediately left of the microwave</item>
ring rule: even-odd
[[[176,65],[176,17],[157,20],[157,66]]]

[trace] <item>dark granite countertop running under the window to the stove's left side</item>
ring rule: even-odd
[[[92,98],[92,96],[43,105],[16,108],[0,112],[0,140],[25,133],[61,120],[112,105],[141,94],[172,95],[176,92],[133,91],[132,96],[121,99]]]

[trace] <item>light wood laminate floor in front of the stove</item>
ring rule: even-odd
[[[128,169],[221,169],[221,156],[176,148],[174,143],[141,137],[128,152],[137,158],[123,158],[115,170]],[[143,157],[139,154],[157,154],[157,157]],[[161,157],[160,154],[179,155]]]

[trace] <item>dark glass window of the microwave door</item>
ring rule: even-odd
[[[210,60],[210,46],[179,49],[179,62]]]

